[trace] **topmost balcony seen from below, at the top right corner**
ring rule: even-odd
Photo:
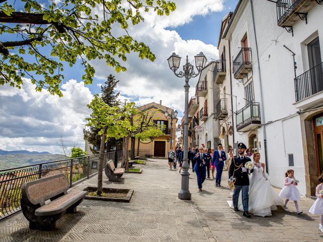
[[[307,24],[307,12],[315,5],[322,4],[320,0],[278,0],[277,24],[292,30],[292,26],[298,20],[305,20]],[[291,31],[289,31],[291,32]]]

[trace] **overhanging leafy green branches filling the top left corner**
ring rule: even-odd
[[[24,7],[17,9],[0,0],[0,36],[10,39],[0,42],[0,84],[21,88],[23,77],[27,77],[35,90],[47,89],[59,96],[63,95],[64,63],[72,68],[80,59],[82,79],[90,84],[95,73],[89,63],[92,59],[104,59],[117,72],[126,71],[121,61],[125,62],[130,52],[153,62],[150,48],[135,40],[128,28],[144,21],[143,11],[153,10],[162,16],[176,9],[166,0],[21,2]],[[124,34],[114,34],[116,28]]]

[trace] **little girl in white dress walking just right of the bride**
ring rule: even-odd
[[[282,191],[279,194],[281,198],[286,199],[284,203],[284,210],[288,211],[287,203],[289,200],[293,200],[295,203],[297,214],[301,214],[302,211],[299,211],[298,204],[297,204],[297,201],[301,200],[301,196],[299,195],[299,191],[296,188],[298,184],[298,180],[296,180],[294,177],[294,170],[292,169],[287,170],[287,172],[285,173],[285,177],[286,177],[285,184],[284,184],[285,187],[282,189]]]

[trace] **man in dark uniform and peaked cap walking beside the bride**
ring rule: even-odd
[[[235,178],[235,190],[233,191],[232,202],[234,211],[239,211],[238,209],[238,199],[240,191],[242,191],[242,206],[243,206],[243,216],[250,218],[251,215],[248,213],[248,203],[249,203],[249,177],[248,170],[244,167],[245,163],[251,161],[247,156],[244,156],[244,152],[247,149],[245,144],[238,144],[238,156],[235,156],[229,168],[229,177],[231,180]],[[253,169],[250,170],[250,173],[253,172]]]

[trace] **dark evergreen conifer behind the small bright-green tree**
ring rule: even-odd
[[[111,74],[107,77],[104,86],[101,86],[101,98],[109,106],[120,105],[120,100],[118,99],[119,92],[115,93],[115,88],[117,87],[119,80],[115,79],[115,76]],[[86,139],[90,144],[93,145],[93,148],[90,147],[90,150],[93,154],[98,154],[101,143],[101,136],[98,135],[99,129],[95,126],[90,126],[88,129],[83,130],[84,139]],[[117,144],[121,143],[120,140],[115,138],[108,138],[105,142],[104,151],[111,151],[112,147],[116,147]]]

